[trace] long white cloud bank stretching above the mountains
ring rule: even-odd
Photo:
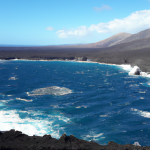
[[[92,24],[90,27],[80,26],[74,30],[59,30],[56,33],[60,38],[83,37],[92,32],[97,33],[136,33],[150,28],[150,10],[136,11],[123,19],[114,19],[110,22]]]

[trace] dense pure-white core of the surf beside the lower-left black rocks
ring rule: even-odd
[[[28,135],[46,134],[46,131],[44,130],[44,124],[41,124],[40,120],[33,120],[29,118],[20,119],[19,115],[16,114],[16,111],[0,111],[0,118],[0,129],[2,131],[15,129]],[[38,128],[41,126],[43,126],[43,129],[39,131]]]

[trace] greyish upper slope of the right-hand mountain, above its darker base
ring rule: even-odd
[[[136,34],[132,34],[131,36],[129,36],[125,39],[117,41],[117,42],[113,43],[111,46],[121,44],[121,43],[136,41],[136,40],[140,40],[140,39],[145,39],[145,38],[149,38],[149,37],[150,37],[150,29],[146,29],[146,30],[143,30],[143,31],[138,32]]]

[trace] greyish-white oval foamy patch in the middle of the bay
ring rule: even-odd
[[[35,89],[31,92],[27,92],[28,96],[35,95],[66,95],[72,93],[72,90],[65,87],[51,86],[46,88]]]

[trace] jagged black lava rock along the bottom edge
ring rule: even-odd
[[[99,145],[66,134],[57,140],[51,135],[28,136],[20,131],[10,130],[0,132],[0,150],[150,150],[150,147],[120,145],[112,141],[108,145]]]

